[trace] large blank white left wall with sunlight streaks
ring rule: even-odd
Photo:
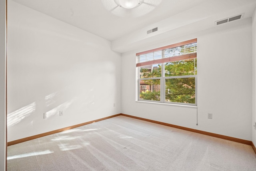
[[[110,45],[8,1],[8,141],[120,113],[121,58]]]

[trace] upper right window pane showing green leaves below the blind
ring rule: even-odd
[[[165,66],[165,76],[186,76],[197,74],[196,58],[190,60],[181,60],[167,62]]]

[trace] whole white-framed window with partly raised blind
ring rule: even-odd
[[[136,54],[138,100],[196,105],[197,39]]]

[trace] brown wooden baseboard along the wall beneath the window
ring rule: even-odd
[[[228,137],[228,136],[225,136],[225,135],[220,135],[220,134],[216,134],[216,133],[210,133],[210,132],[206,132],[206,131],[200,131],[200,130],[197,130],[197,129],[191,129],[191,128],[182,127],[182,126],[178,126],[178,125],[172,125],[172,124],[170,124],[170,123],[164,123],[164,122],[154,121],[154,120],[145,119],[145,118],[142,118],[142,117],[137,117],[137,116],[132,116],[132,115],[126,115],[126,114],[123,114],[123,113],[121,113],[121,115],[127,116],[127,117],[132,117],[132,118],[135,118],[135,119],[140,119],[140,120],[143,120],[143,121],[152,122],[152,123],[158,123],[158,124],[160,124],[160,125],[166,125],[166,126],[169,126],[169,127],[175,127],[175,128],[183,129],[183,130],[186,130],[186,131],[201,133],[201,134],[209,135],[209,136],[212,136],[212,137],[222,138],[222,139],[226,139],[226,140],[230,140],[230,141],[234,141],[234,142],[238,142],[238,143],[243,143],[243,144],[247,144],[247,145],[252,145],[252,141],[248,141],[248,140],[244,140],[244,139],[239,139],[239,138],[234,138],[234,137]],[[255,147],[254,147],[254,148],[255,148]],[[255,151],[255,149],[254,149],[254,151]]]

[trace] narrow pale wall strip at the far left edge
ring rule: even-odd
[[[0,170],[5,170],[6,161],[6,3],[0,0]]]

